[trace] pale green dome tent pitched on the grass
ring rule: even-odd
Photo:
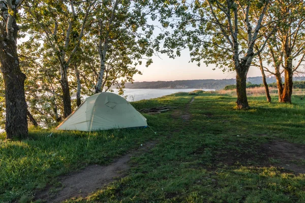
[[[97,131],[142,126],[147,126],[146,118],[127,100],[102,92],[87,97],[56,129]]]

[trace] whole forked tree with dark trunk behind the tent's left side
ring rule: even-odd
[[[71,112],[71,96],[68,80],[68,69],[87,25],[88,16],[92,13],[96,1],[32,1],[25,8],[27,23],[35,30],[52,50],[59,65],[60,86],[64,104],[64,117]],[[80,25],[79,25],[80,23]]]

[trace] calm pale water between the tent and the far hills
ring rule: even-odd
[[[157,98],[177,92],[191,92],[197,89],[125,89],[124,95],[128,101],[138,101],[142,99]],[[201,89],[203,91],[215,91],[215,89]],[[114,90],[114,93],[117,93]]]

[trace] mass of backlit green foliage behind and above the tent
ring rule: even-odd
[[[118,2],[118,8],[110,26],[107,21],[114,2]],[[94,94],[100,72],[98,45],[106,33],[109,43],[102,89],[117,88],[123,94],[125,83],[141,74],[136,67],[152,62],[154,27],[147,22],[149,9],[149,2],[26,2],[19,19],[24,24],[21,37],[26,37],[18,50],[27,75],[28,108],[41,126],[53,126],[64,117],[64,79],[68,80],[69,96],[74,98],[79,92],[83,99]],[[75,108],[76,101],[72,100]]]

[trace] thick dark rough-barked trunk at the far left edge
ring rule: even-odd
[[[27,138],[27,105],[24,95],[26,77],[20,70],[16,43],[2,39],[0,50],[1,71],[5,83],[7,139]]]

